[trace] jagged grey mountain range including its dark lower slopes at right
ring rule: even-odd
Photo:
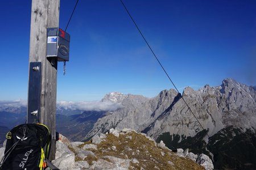
[[[121,103],[122,107],[99,118],[85,141],[111,128],[131,128],[157,142],[164,141],[171,149],[204,152],[217,169],[256,168],[255,87],[225,79],[218,87],[206,85],[198,91],[187,87],[182,95],[171,89],[151,99],[112,93],[104,100]],[[234,154],[232,148],[240,154]]]

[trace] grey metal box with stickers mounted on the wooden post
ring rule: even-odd
[[[69,61],[70,35],[60,28],[47,28],[47,58]]]

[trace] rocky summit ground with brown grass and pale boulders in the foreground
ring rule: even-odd
[[[195,155],[181,148],[173,152],[163,142],[157,144],[146,134],[131,129],[110,129],[88,142],[69,142],[59,136],[52,163],[61,170],[213,169],[207,155]]]

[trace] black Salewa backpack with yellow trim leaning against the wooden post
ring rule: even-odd
[[[51,134],[43,124],[22,124],[6,134],[1,170],[32,170],[52,166],[48,160]],[[53,165],[51,169],[58,169]]]

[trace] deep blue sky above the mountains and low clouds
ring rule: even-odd
[[[256,85],[256,1],[123,0],[176,87],[233,78]],[[60,1],[65,29],[76,0]],[[1,1],[0,100],[27,99],[31,1]],[[57,100],[100,100],[109,92],[154,97],[174,88],[118,0],[80,0],[67,32],[67,73]]]

